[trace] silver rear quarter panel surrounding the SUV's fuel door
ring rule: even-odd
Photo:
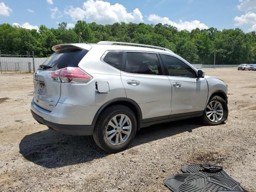
[[[84,56],[78,66],[93,79],[87,84],[62,83],[60,103],[102,106],[114,98],[126,97],[120,70],[100,61],[105,51],[106,48],[93,46]],[[98,93],[95,85],[97,81],[108,82],[109,93]]]

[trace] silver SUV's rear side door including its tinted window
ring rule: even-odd
[[[124,52],[122,83],[127,98],[140,106],[143,122],[167,119],[171,112],[172,87],[159,59],[154,52]]]

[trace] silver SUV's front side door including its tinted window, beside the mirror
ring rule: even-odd
[[[160,54],[172,84],[171,114],[193,113],[204,110],[208,97],[205,78],[176,56]]]

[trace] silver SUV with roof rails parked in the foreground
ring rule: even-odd
[[[34,73],[31,113],[48,128],[93,135],[108,151],[126,148],[152,124],[228,118],[228,88],[172,51],[143,44],[60,44]]]

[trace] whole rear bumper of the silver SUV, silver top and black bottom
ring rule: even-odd
[[[36,121],[68,135],[92,135],[92,123],[99,106],[82,106],[58,103],[48,111],[31,102],[31,114]]]

